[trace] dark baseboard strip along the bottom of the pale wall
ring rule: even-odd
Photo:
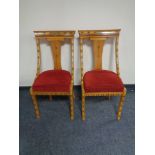
[[[135,84],[125,84],[124,85],[129,92],[135,92]],[[30,86],[19,86],[19,90],[28,90]],[[81,85],[74,86],[74,89],[81,90]]]

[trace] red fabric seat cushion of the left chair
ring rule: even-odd
[[[43,92],[70,92],[71,74],[65,70],[47,70],[35,79],[32,89]]]

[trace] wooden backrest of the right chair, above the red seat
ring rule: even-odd
[[[118,40],[120,29],[113,30],[79,30],[80,38],[80,63],[81,79],[83,78],[83,40],[91,40],[93,45],[94,69],[102,69],[102,53],[105,41],[108,38],[115,40],[115,62],[116,72],[120,76],[119,59],[118,59]]]

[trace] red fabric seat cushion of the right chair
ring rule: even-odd
[[[108,70],[92,70],[84,74],[85,92],[122,92],[123,83],[118,75]]]

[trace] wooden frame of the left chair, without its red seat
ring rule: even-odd
[[[61,69],[61,42],[68,39],[70,41],[70,51],[71,51],[71,86],[70,92],[42,92],[34,91],[32,87],[30,88],[30,94],[32,96],[34,111],[36,118],[40,118],[40,111],[36,96],[38,95],[49,95],[49,99],[52,96],[62,95],[69,96],[70,98],[70,119],[74,119],[74,34],[75,31],[34,31],[36,46],[37,46],[37,72],[36,78],[40,74],[41,70],[41,41],[47,41],[50,43],[51,52],[53,53],[54,69]],[[58,54],[59,53],[59,54]]]

